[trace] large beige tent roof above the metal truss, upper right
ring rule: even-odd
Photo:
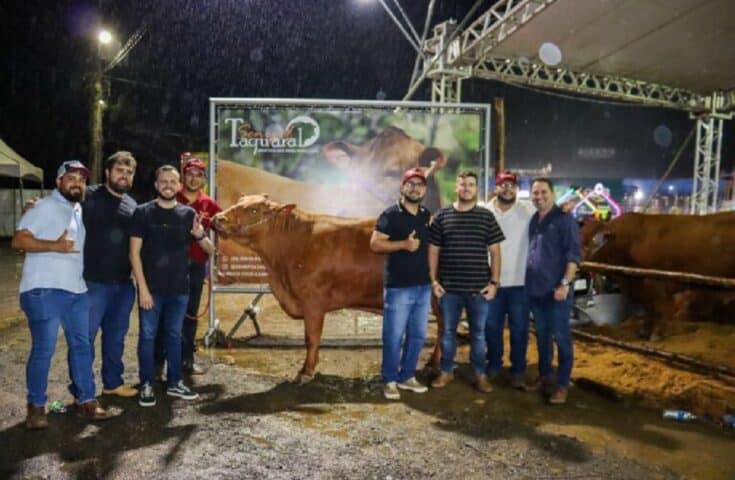
[[[544,42],[575,70],[708,94],[735,88],[735,1],[557,0],[488,50],[535,59]]]

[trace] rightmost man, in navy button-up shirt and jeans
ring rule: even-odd
[[[526,291],[536,324],[538,387],[551,394],[549,403],[562,404],[567,400],[574,361],[569,316],[574,293],[571,283],[580,261],[579,227],[556,205],[554,184],[548,178],[533,181],[531,199],[537,211],[529,225]],[[554,343],[559,355],[556,386],[551,366]]]

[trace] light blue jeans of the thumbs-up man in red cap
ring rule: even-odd
[[[383,290],[383,382],[416,375],[429,321],[431,285]]]

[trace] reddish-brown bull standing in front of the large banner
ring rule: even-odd
[[[316,371],[325,313],[382,310],[384,257],[370,250],[374,218],[311,214],[266,195],[250,195],[215,216],[212,224],[262,258],[281,308],[304,319],[306,360],[300,381]]]

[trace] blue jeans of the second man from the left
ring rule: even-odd
[[[108,390],[123,383],[125,336],[135,301],[133,282],[87,282],[89,294],[89,341],[94,359],[94,342],[102,329],[102,385]]]

